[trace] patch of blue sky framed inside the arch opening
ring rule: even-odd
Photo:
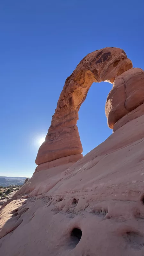
[[[106,140],[112,130],[107,125],[105,104],[112,84],[93,83],[78,112],[77,127],[83,146],[83,156]]]

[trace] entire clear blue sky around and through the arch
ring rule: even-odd
[[[0,3],[0,175],[31,177],[65,79],[89,52],[120,47],[144,69],[143,0],[4,0]],[[112,85],[92,84],[77,123],[84,154],[111,133]]]

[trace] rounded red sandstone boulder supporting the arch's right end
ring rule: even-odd
[[[144,71],[132,68],[117,76],[108,94],[105,112],[108,126],[114,124],[144,102]]]

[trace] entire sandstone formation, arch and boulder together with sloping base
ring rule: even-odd
[[[33,177],[1,207],[0,255],[144,255],[144,71],[132,68],[121,49],[105,48],[100,54],[107,50],[120,60],[117,66],[115,57],[110,65],[102,62],[106,66],[99,67],[98,75],[114,82],[106,102],[113,134],[79,159],[76,121],[89,85],[79,85],[78,79],[74,84],[74,71],[39,149]],[[79,64],[84,66],[81,79],[93,76],[95,61],[93,69],[86,69],[87,56]]]

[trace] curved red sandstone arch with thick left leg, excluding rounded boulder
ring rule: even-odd
[[[38,150],[36,164],[72,156],[82,157],[82,144],[76,122],[78,111],[93,82],[113,83],[116,76],[132,68],[132,62],[120,48],[107,47],[89,53],[66,79],[52,123]],[[112,128],[112,127],[111,127]]]

